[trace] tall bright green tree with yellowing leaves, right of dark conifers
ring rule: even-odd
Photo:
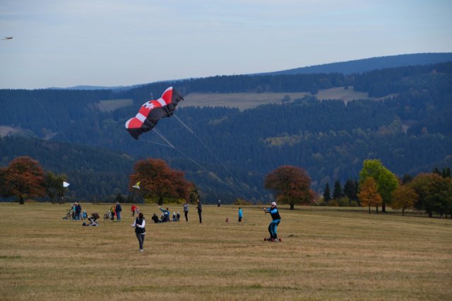
[[[368,177],[376,182],[377,191],[382,199],[381,211],[384,213],[386,205],[391,204],[392,193],[398,187],[398,179],[391,170],[381,164],[380,160],[364,160],[362,170],[359,172],[359,185],[362,185]]]

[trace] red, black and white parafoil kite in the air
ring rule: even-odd
[[[176,89],[169,87],[157,100],[145,102],[135,117],[127,120],[126,129],[133,138],[150,131],[160,118],[174,114],[179,101],[184,100]]]

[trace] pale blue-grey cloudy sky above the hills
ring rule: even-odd
[[[451,0],[0,0],[0,88],[119,86],[452,52]]]

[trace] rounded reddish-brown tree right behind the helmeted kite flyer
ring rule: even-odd
[[[266,175],[264,187],[275,193],[278,203],[290,204],[290,210],[295,204],[309,204],[313,193],[309,187],[311,179],[305,170],[299,167],[283,165]]]

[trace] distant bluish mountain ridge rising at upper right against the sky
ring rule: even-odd
[[[340,61],[331,64],[321,64],[283,71],[258,73],[254,75],[280,75],[280,74],[310,74],[310,73],[362,73],[376,69],[396,68],[412,65],[429,65],[452,61],[452,52],[399,54],[387,57],[372,57],[369,59],[355,59]]]

